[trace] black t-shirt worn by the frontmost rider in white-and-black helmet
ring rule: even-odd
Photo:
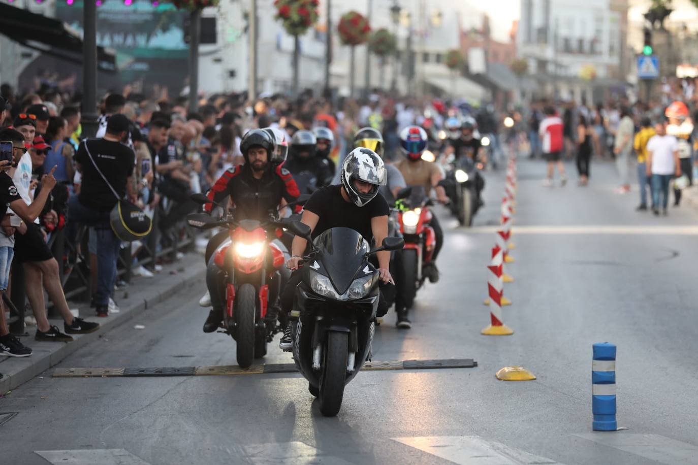
[[[356,206],[344,200],[341,185],[328,185],[313,192],[304,209],[320,217],[313,230],[313,239],[330,228],[346,227],[359,231],[366,241],[373,240],[371,218],[390,213],[387,201],[380,192],[368,204]]]

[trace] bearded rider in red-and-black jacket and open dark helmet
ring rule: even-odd
[[[240,142],[245,164],[226,170],[207,192],[207,197],[220,203],[230,196],[230,203],[235,206],[236,220],[264,221],[269,218],[269,211],[295,201],[299,195],[298,187],[288,170],[283,168],[283,160],[274,160],[275,150],[276,144],[269,132],[261,129],[248,131]],[[209,213],[213,207],[212,203],[204,206]],[[300,208],[297,207],[296,210],[299,211]],[[223,319],[225,306],[225,275],[214,263],[213,254],[208,262],[206,285],[209,305],[213,308],[204,323],[204,333],[213,333]],[[269,286],[269,289],[272,291],[270,294],[273,294],[274,286]],[[270,295],[269,302],[274,303],[276,297]],[[270,305],[270,310],[272,307]]]

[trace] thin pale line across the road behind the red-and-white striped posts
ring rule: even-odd
[[[501,229],[499,226],[481,226],[464,229],[467,233],[491,234]],[[607,234],[607,235],[663,235],[663,236],[698,236],[697,226],[514,226],[512,234]]]

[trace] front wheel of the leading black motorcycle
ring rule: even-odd
[[[320,412],[323,416],[333,417],[339,413],[344,398],[349,350],[349,334],[340,331],[327,333],[325,347],[325,365],[320,379]]]

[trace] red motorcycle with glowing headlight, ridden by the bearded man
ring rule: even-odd
[[[306,196],[309,197],[309,196]],[[210,202],[193,195],[196,201]],[[306,198],[295,202],[302,204]],[[225,310],[223,333],[237,342],[237,364],[247,368],[255,358],[267,355],[267,343],[281,331],[276,312],[269,313],[270,295],[280,296],[288,280],[283,268],[288,251],[272,242],[281,238],[285,223],[270,217],[268,221],[240,220],[231,217],[216,220],[206,213],[187,216],[190,226],[200,229],[228,227],[230,242],[218,247],[214,263],[225,273]],[[273,234],[269,234],[273,231]],[[270,286],[274,292],[270,293]]]

